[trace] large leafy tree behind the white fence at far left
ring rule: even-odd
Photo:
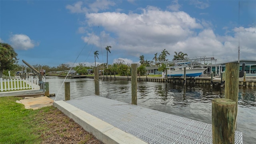
[[[0,42],[0,78],[4,70],[13,70],[16,67],[18,54],[14,48],[6,43]]]

